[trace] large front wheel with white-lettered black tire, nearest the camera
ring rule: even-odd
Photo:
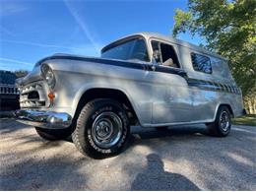
[[[102,159],[120,153],[129,134],[129,120],[122,105],[106,98],[92,100],[83,107],[72,139],[82,154]],[[105,138],[99,141],[100,137]]]

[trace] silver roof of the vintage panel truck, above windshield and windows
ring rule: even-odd
[[[188,47],[190,49],[193,49],[193,50],[196,50],[196,51],[199,51],[199,52],[203,52],[205,54],[208,54],[208,55],[212,55],[212,56],[215,56],[215,57],[219,57],[219,58],[222,58],[224,60],[226,60],[223,56],[215,53],[215,52],[211,52],[203,47],[200,47],[200,46],[197,46],[195,44],[192,44],[190,42],[186,42],[184,40],[180,40],[180,39],[177,39],[177,38],[174,38],[172,36],[167,36],[167,35],[163,35],[163,34],[160,34],[158,32],[137,32],[137,33],[133,33],[133,34],[129,34],[127,36],[124,36],[122,38],[119,38],[111,43],[109,43],[108,45],[104,46],[101,50],[103,50],[104,48],[106,48],[107,46],[119,41],[119,40],[122,40],[122,39],[125,39],[125,38],[129,38],[129,37],[132,37],[132,36],[135,36],[135,35],[142,35],[144,36],[146,39],[149,39],[149,38],[158,38],[160,40],[163,40],[163,41],[167,41],[167,42],[170,42],[170,43],[174,43],[174,44],[178,44],[178,45],[181,45],[181,46],[185,46],[185,47]]]

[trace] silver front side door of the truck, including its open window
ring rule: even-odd
[[[173,45],[151,41],[157,63],[151,73],[154,79],[153,124],[190,121],[193,102],[190,90]]]

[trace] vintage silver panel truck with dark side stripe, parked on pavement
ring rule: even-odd
[[[125,146],[131,125],[205,123],[224,137],[243,113],[226,59],[188,42],[141,32],[101,49],[100,58],[55,54],[17,81],[17,118],[47,140],[72,135],[84,155]]]

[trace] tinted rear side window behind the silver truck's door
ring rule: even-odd
[[[209,57],[197,53],[191,53],[191,61],[195,71],[212,74],[212,65]]]

